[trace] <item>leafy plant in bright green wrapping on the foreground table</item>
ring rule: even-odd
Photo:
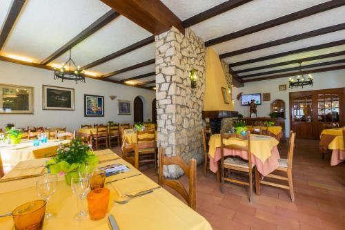
[[[79,177],[79,171],[91,173],[98,164],[98,157],[80,138],[72,140],[70,146],[60,146],[57,155],[46,162],[50,173],[65,175],[66,184]]]

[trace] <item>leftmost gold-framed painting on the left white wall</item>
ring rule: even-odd
[[[0,114],[34,113],[34,88],[0,84]]]

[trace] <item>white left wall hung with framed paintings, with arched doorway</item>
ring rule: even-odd
[[[152,119],[151,104],[155,99],[155,92],[130,86],[123,86],[110,82],[102,82],[86,78],[86,83],[55,80],[51,70],[43,70],[30,66],[12,64],[0,61],[0,84],[16,84],[34,87],[34,114],[33,115],[0,115],[0,128],[7,123],[14,123],[17,127],[46,126],[67,127],[69,131],[78,130],[81,124],[130,122],[132,115],[117,115],[117,99],[126,99],[132,102],[135,97],[141,96],[144,102],[144,121]],[[128,76],[132,77],[132,76]],[[75,88],[75,111],[46,111],[42,110],[42,85]],[[84,117],[84,94],[104,96],[104,117]],[[115,100],[109,98],[116,95]]]

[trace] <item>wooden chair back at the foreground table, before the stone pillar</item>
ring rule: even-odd
[[[164,165],[178,165],[189,179],[189,192],[178,180],[169,180],[164,178]],[[177,191],[188,203],[188,206],[194,210],[197,208],[197,161],[190,159],[189,166],[181,157],[166,157],[164,149],[159,148],[159,175],[158,184],[166,185]]]

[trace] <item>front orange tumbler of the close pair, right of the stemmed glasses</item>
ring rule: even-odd
[[[88,213],[91,220],[101,220],[108,213],[109,189],[99,188],[88,193]]]

